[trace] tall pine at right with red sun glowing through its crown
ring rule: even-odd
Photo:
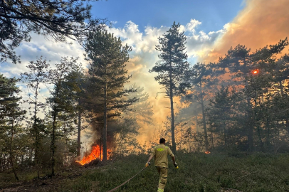
[[[261,96],[268,92],[270,81],[272,81],[270,73],[275,74],[275,80],[278,81],[277,77],[280,73],[276,73],[277,70],[274,70],[275,55],[280,53],[286,46],[288,46],[287,38],[273,46],[266,46],[256,50],[255,53],[251,53],[251,50],[245,46],[238,45],[236,48],[230,48],[225,57],[219,60],[218,65],[221,68],[226,68],[228,73],[230,73],[231,84],[235,87],[238,87],[238,85],[243,87],[241,91],[243,92],[243,96],[246,97],[245,100],[247,104],[243,128],[246,129],[248,134],[249,151],[255,150],[255,129],[257,129],[258,144],[261,145],[262,143],[260,118],[257,117],[259,113],[257,112],[257,110],[259,110],[257,102],[261,101]],[[258,69],[256,74],[252,73],[255,69]],[[287,73],[285,70],[283,71]],[[280,78],[280,80],[281,79],[282,78]],[[280,87],[281,86],[282,85],[280,85]]]

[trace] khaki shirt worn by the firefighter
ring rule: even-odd
[[[168,167],[167,155],[174,156],[169,146],[165,146],[164,144],[154,146],[152,155],[154,156],[154,166],[166,168]]]

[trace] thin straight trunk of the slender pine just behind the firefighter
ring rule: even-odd
[[[171,62],[171,55],[169,55],[169,65],[170,65],[170,71],[169,71],[169,100],[171,102],[171,127],[172,127],[172,151],[175,153],[177,151],[176,148],[176,141],[174,139],[174,95],[172,90],[172,62]]]

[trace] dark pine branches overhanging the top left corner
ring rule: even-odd
[[[90,1],[90,0],[88,0]],[[83,41],[85,32],[103,28],[105,20],[93,19],[91,6],[83,1],[3,1],[0,4],[0,63],[11,58],[21,41],[30,41],[31,32],[66,42]]]

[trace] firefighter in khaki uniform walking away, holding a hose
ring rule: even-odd
[[[154,157],[154,166],[157,168],[159,172],[159,186],[157,192],[164,192],[164,186],[167,183],[167,169],[168,169],[168,160],[167,155],[172,157],[172,161],[174,162],[174,166],[177,166],[177,163],[174,159],[174,154],[172,153],[169,146],[165,146],[166,140],[164,138],[159,139],[159,145],[155,146],[152,150],[151,156],[149,156],[149,160],[145,166],[149,166],[149,161]]]

